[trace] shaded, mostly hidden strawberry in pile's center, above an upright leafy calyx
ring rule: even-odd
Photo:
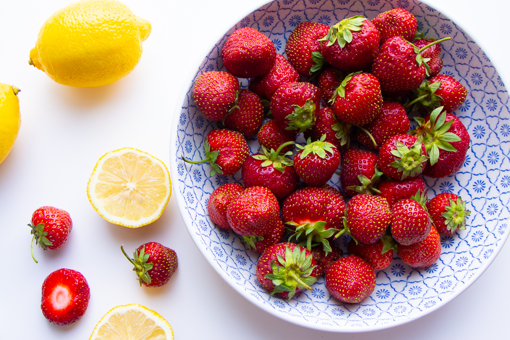
[[[324,141],[335,145],[341,151],[350,143],[350,132],[350,124],[339,121],[331,108],[324,107],[319,110],[315,125],[306,130],[304,136],[318,141],[326,135]]]

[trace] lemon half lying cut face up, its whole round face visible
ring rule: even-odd
[[[171,192],[165,164],[133,148],[103,155],[87,185],[87,196],[95,211],[108,222],[130,228],[156,221]]]

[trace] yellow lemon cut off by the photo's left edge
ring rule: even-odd
[[[11,152],[18,136],[21,124],[18,92],[17,88],[0,83],[0,163]]]

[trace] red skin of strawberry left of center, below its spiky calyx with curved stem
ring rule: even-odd
[[[264,161],[253,157],[256,155],[260,155],[260,153],[257,152],[248,156],[241,169],[246,188],[268,188],[278,200],[284,199],[296,190],[299,176],[294,167],[287,166],[283,172],[275,169],[273,165],[263,167],[262,163]]]

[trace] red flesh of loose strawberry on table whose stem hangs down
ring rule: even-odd
[[[69,238],[72,229],[72,220],[68,212],[54,206],[41,206],[32,214],[32,225],[44,224],[45,236],[51,245],[46,248],[60,249]],[[37,238],[36,238],[37,239]],[[41,245],[41,242],[38,242]],[[41,245],[42,247],[42,245]]]

